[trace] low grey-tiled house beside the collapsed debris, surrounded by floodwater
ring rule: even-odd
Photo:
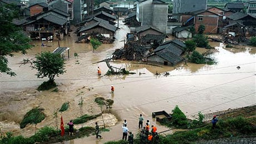
[[[147,56],[147,62],[175,66],[183,60],[180,55],[184,52],[184,46],[186,45],[180,40],[169,40],[162,43],[151,55]]]

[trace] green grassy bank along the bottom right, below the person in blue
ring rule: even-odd
[[[216,129],[211,124],[194,130],[175,132],[173,135],[160,136],[158,144],[195,144],[196,141],[225,138],[231,136],[256,136],[256,127],[251,124],[250,119],[243,117],[219,120]],[[126,144],[124,141],[110,141],[105,144]],[[135,140],[134,144],[140,144]]]

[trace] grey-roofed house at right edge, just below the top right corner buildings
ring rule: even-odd
[[[249,14],[244,14],[240,12],[236,12],[226,18],[227,24],[231,23],[242,23],[247,27],[255,27],[256,26],[256,17],[253,17]]]

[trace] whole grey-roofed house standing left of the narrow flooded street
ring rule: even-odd
[[[83,26],[79,30],[78,35],[82,36],[84,34],[93,33],[93,32],[99,32],[103,36],[113,39],[113,35],[116,32],[116,26],[113,26],[109,23],[105,23],[102,21],[97,23],[92,23],[88,26]]]

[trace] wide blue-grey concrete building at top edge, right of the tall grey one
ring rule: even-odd
[[[207,0],[173,0],[173,14],[207,9]]]

